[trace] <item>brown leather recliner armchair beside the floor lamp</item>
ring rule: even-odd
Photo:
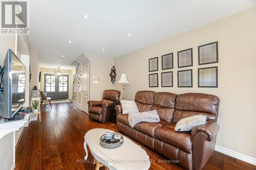
[[[89,117],[99,122],[108,122],[112,119],[112,104],[119,101],[120,91],[105,90],[101,101],[88,101]]]

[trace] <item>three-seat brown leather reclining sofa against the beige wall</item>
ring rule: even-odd
[[[170,92],[138,91],[135,102],[140,112],[157,110],[159,123],[141,122],[133,128],[128,114],[117,105],[118,130],[171,160],[178,160],[186,169],[202,169],[215,151],[220,100],[203,93],[174,94]],[[184,117],[203,114],[207,123],[189,132],[175,131]]]

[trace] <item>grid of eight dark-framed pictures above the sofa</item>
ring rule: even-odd
[[[177,52],[178,68],[193,66],[193,48]],[[218,41],[198,46],[198,65],[218,63]],[[161,56],[162,70],[174,68],[174,53]],[[158,71],[158,57],[148,60],[148,71]],[[174,71],[161,72],[161,87],[174,87]],[[158,87],[158,72],[148,75],[150,87]],[[193,69],[177,71],[178,87],[193,87]],[[198,68],[198,87],[218,87],[218,66]]]

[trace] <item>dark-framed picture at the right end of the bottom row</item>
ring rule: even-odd
[[[198,68],[198,87],[218,87],[218,67]]]

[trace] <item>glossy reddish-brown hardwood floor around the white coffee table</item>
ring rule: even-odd
[[[86,113],[69,103],[52,106],[52,109],[50,106],[43,106],[41,122],[31,122],[29,127],[24,129],[16,148],[15,169],[95,169],[91,154],[88,162],[83,161],[84,134],[93,128],[118,131],[116,125],[110,122],[103,124],[94,122]],[[142,148],[153,160],[150,169],[183,169],[176,164],[160,162],[165,160],[162,156],[146,147],[142,146]],[[256,170],[256,166],[215,152],[204,169]]]

